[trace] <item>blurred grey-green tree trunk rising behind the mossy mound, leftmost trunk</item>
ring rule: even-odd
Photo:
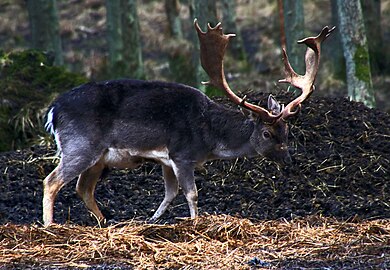
[[[63,65],[56,0],[27,0],[32,48],[54,56],[55,65]]]

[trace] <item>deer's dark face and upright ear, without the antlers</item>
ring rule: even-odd
[[[272,96],[269,96],[268,110],[273,114],[278,114],[282,110],[282,106]],[[264,124],[258,117],[250,141],[259,155],[281,164],[291,163],[288,151],[288,125],[283,119],[279,119],[273,124]]]

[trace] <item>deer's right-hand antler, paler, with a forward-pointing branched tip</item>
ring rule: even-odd
[[[331,34],[335,27],[329,29],[325,26],[321,33],[316,37],[308,37],[298,41],[299,44],[306,44],[307,50],[305,55],[306,73],[305,75],[297,74],[291,67],[286,53],[283,48],[283,62],[285,67],[285,79],[279,80],[280,83],[290,83],[300,88],[302,93],[299,97],[291,101],[281,112],[282,118],[287,118],[299,111],[301,103],[307,99],[314,90],[314,81],[320,64],[321,43]]]

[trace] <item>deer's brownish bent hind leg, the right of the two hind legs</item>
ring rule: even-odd
[[[104,221],[104,216],[96,204],[94,192],[103,169],[104,164],[102,162],[96,163],[80,174],[76,185],[77,194],[82,198],[86,207],[95,215],[99,222]]]

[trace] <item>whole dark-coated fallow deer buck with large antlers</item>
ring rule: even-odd
[[[198,215],[194,169],[213,159],[262,155],[290,163],[288,126],[314,89],[320,47],[333,29],[305,38],[306,73],[298,75],[284,54],[286,77],[280,82],[302,93],[286,107],[271,96],[268,109],[238,97],[229,87],[223,58],[229,39],[221,23],[202,32],[194,21],[201,48],[201,64],[208,84],[223,90],[239,110],[218,104],[199,90],[179,83],[140,80],[90,82],[60,95],[49,107],[46,129],[55,138],[59,165],[44,180],[43,221],[53,223],[54,201],[59,190],[78,176],[76,190],[87,208],[104,220],[94,197],[105,168],[135,168],[145,160],[162,165],[165,197],[151,221],[156,221],[176,197],[179,187],[188,202],[191,218]]]

